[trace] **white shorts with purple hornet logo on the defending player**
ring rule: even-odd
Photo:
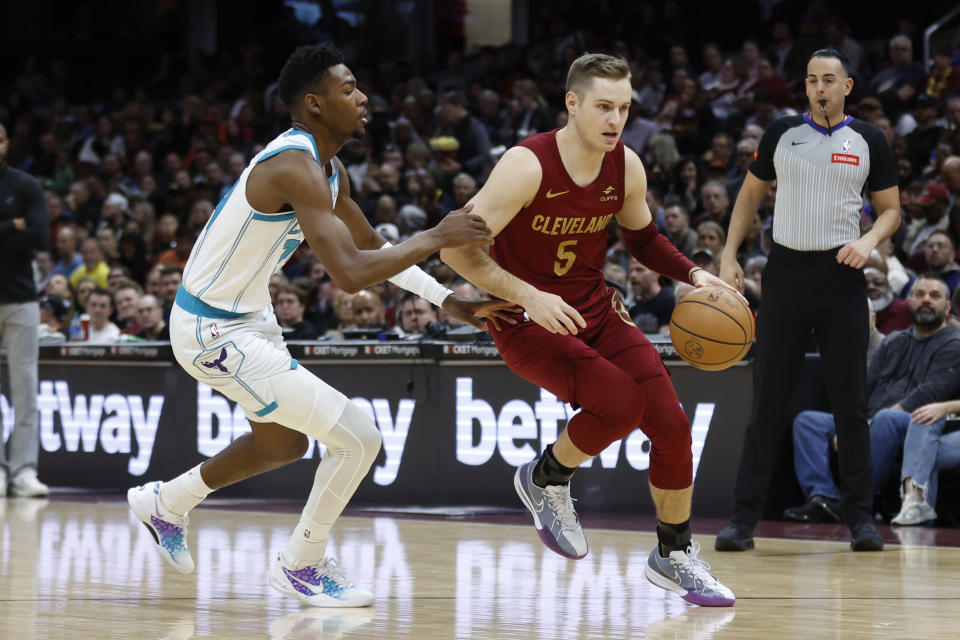
[[[276,422],[315,436],[337,422],[348,402],[290,356],[269,306],[213,318],[174,304],[170,345],[187,373],[243,407],[251,422]]]

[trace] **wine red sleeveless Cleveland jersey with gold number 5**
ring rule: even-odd
[[[543,170],[540,189],[497,235],[490,256],[533,286],[581,308],[607,296],[607,227],[623,208],[623,141],[603,156],[597,178],[577,186],[560,159],[557,132],[524,139]],[[609,304],[609,302],[607,303]]]

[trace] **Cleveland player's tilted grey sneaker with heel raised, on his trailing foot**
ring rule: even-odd
[[[533,515],[533,524],[543,544],[565,558],[579,560],[587,555],[590,546],[583,535],[583,528],[573,510],[570,485],[547,485],[538,487],[533,482],[536,460],[517,467],[513,486],[524,506]]]

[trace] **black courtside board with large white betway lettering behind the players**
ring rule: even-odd
[[[383,449],[355,503],[515,507],[515,468],[539,455],[575,413],[502,363],[448,355],[453,359],[434,362],[301,360],[366,411],[383,434]],[[167,479],[250,430],[243,411],[224,396],[176,365],[151,365],[42,362],[37,404],[44,481],[118,489]],[[750,408],[750,366],[671,369],[691,421],[694,510],[726,517]],[[0,420],[6,440],[14,412],[5,395]],[[303,460],[218,495],[305,499],[322,453],[322,445],[311,442]],[[649,453],[650,442],[636,431],[585,463],[573,487],[582,508],[652,513]]]

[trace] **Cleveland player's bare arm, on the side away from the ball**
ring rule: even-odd
[[[540,163],[533,152],[525,147],[514,147],[503,155],[483,188],[470,202],[496,236],[533,201],[541,178]],[[586,326],[583,317],[563,298],[540,291],[502,269],[479,246],[443,249],[440,258],[491,295],[523,307],[531,320],[548,331],[576,334],[578,327]]]

